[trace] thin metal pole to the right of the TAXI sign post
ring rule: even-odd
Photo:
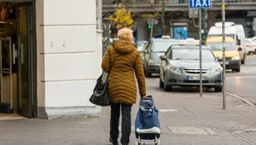
[[[222,32],[223,32],[223,108],[226,108],[226,65],[225,65],[225,1],[222,0]]]

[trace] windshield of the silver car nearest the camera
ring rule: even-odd
[[[201,50],[202,61],[215,61],[215,57],[210,49]],[[174,48],[169,56],[172,60],[199,60],[199,48]]]

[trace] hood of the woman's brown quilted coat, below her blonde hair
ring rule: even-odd
[[[113,43],[114,49],[120,54],[130,54],[136,49],[136,45],[130,41],[117,40]]]

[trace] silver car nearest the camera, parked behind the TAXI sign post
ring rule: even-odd
[[[165,55],[160,55],[160,88],[166,91],[173,86],[199,87],[200,62],[199,46],[173,45]],[[202,46],[202,85],[222,91],[223,68],[212,50]]]

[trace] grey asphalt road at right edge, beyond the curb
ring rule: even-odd
[[[256,55],[247,55],[241,73],[226,73],[227,91],[256,104]]]

